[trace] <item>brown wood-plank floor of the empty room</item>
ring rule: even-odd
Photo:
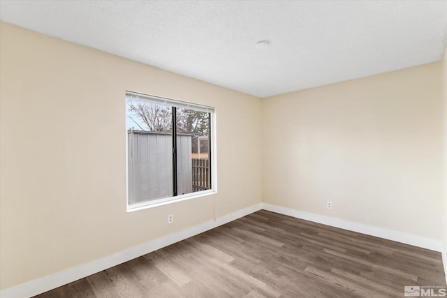
[[[404,297],[441,253],[258,211],[37,297]]]

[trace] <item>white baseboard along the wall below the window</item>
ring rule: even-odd
[[[55,274],[43,276],[42,278],[34,279],[33,281],[17,285],[13,288],[2,290],[0,291],[0,297],[23,298],[39,295],[43,292],[58,288],[61,285],[66,285],[67,283],[77,281],[80,278],[84,278],[91,274],[95,274],[96,272],[103,271],[134,258],[138,258],[141,255],[156,251],[157,249],[163,248],[170,244],[174,244],[175,242],[193,237],[196,234],[200,234],[202,232],[206,232],[207,230],[217,228],[219,225],[224,225],[225,223],[229,223],[230,221],[235,221],[237,218],[241,218],[243,216],[261,210],[262,206],[262,203],[254,204],[250,207],[235,211],[231,214],[227,214],[226,216],[216,218],[216,221],[207,221],[186,230],[147,241],[145,244],[129,248],[126,251],[115,253],[114,255],[108,255],[105,258],[94,260],[92,262],[78,265],[76,267],[68,268],[64,271],[59,271]]]

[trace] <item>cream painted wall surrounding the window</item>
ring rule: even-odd
[[[261,202],[260,99],[0,26],[2,290]],[[216,195],[126,212],[126,90],[215,107]]]

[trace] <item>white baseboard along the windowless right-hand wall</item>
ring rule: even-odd
[[[323,216],[320,214],[313,214],[296,209],[277,206],[274,204],[263,203],[263,209],[293,216],[296,218],[305,219],[306,221],[313,221],[314,223],[322,223],[323,225],[330,225],[335,228],[341,228],[344,230],[350,230],[353,232],[359,232],[362,234],[368,234],[374,237],[380,237],[383,239],[393,240],[404,244],[427,248],[432,251],[442,251],[442,241],[431,239],[427,237],[421,237],[415,234],[409,234],[405,232],[399,232],[395,230],[388,230],[384,228],[378,228],[374,225],[365,225],[363,223],[354,223],[353,221],[344,221],[343,219],[333,218],[329,216]],[[445,260],[445,259],[444,259]],[[446,262],[444,261],[444,265]],[[446,268],[444,266],[444,268]]]

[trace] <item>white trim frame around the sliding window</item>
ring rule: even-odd
[[[181,100],[173,100],[170,98],[163,98],[159,96],[152,96],[147,94],[141,94],[134,91],[126,90],[125,98],[133,98],[136,100],[146,101],[148,103],[156,103],[162,105],[170,105],[171,107],[180,107],[180,108],[189,108],[195,109],[200,112],[208,112],[210,113],[210,186],[211,189],[207,189],[205,191],[196,191],[194,193],[186,193],[184,195],[173,195],[167,198],[159,198],[155,200],[149,200],[145,202],[138,202],[134,204],[129,204],[129,138],[127,128],[125,128],[125,136],[126,136],[126,211],[138,211],[153,207],[159,207],[166,204],[171,204],[175,202],[181,202],[184,200],[190,200],[193,198],[200,198],[206,195],[213,195],[217,193],[217,150],[216,150],[216,140],[217,140],[217,126],[216,126],[216,110],[214,107],[210,107],[207,105],[198,105],[196,103],[188,103]],[[174,109],[175,110],[175,109]],[[174,116],[173,116],[174,117]],[[173,129],[175,126],[173,126]],[[174,169],[173,169],[174,170]]]

